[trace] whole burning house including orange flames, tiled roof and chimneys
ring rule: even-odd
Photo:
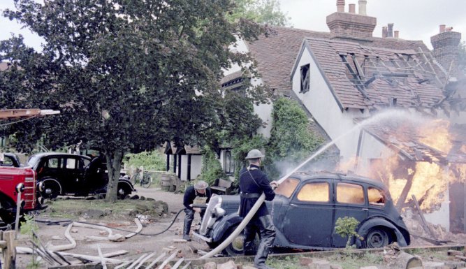
[[[461,34],[441,25],[431,38],[433,50],[400,38],[393,24],[375,37],[377,18],[366,14],[367,1],[358,1],[358,14],[354,4],[345,12],[345,1],[336,3],[337,11],[326,18],[330,32],[272,27],[272,34],[254,43],[240,41],[235,49],[250,52],[261,73],[253,84],[301,103],[310,122],[335,143],[340,165],[351,163],[349,170],[386,182],[398,208],[414,195],[430,221],[464,231],[465,224],[453,223],[465,215],[465,188],[456,186],[465,178]],[[240,81],[239,70],[226,73],[228,87]],[[389,109],[402,112],[384,112]],[[270,105],[256,107],[265,136],[270,112]],[[431,120],[407,122],[397,113]],[[456,199],[453,191],[459,189],[463,196]]]

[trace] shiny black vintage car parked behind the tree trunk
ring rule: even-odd
[[[37,182],[43,182],[43,190],[38,190],[43,198],[59,195],[88,196],[105,194],[108,174],[99,158],[59,152],[34,154],[27,162],[37,172]],[[120,178],[118,197],[125,198],[135,191],[129,180]]]

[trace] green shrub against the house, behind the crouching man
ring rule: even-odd
[[[204,180],[211,186],[217,178],[227,179],[227,176],[221,168],[219,159],[217,159],[217,154],[212,151],[210,147],[205,146],[203,148],[201,175],[198,176],[197,180]]]

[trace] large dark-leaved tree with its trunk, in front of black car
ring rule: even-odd
[[[262,30],[227,20],[235,8],[230,0],[15,0],[15,6],[4,14],[45,44],[38,53],[20,37],[1,43],[1,60],[12,66],[1,74],[0,90],[13,96],[1,106],[61,110],[15,126],[17,136],[41,137],[49,147],[81,139],[101,148],[110,177],[107,201],[117,197],[124,152],[166,140],[199,143],[231,124],[219,117],[228,100],[218,81],[224,68],[251,59],[228,46]],[[247,68],[254,74],[254,65]]]

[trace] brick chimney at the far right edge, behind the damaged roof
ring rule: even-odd
[[[453,61],[450,75],[458,76],[458,45],[461,41],[461,33],[451,31],[452,27],[445,27],[444,24],[439,27],[439,34],[430,38],[432,43],[432,56],[448,71]]]

